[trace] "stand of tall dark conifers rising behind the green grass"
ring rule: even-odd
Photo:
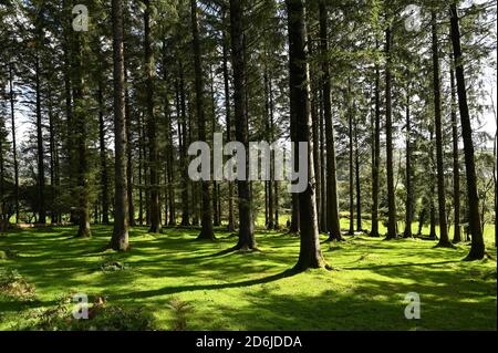
[[[108,246],[128,250],[129,227],[189,226],[257,250],[256,224],[300,233],[297,269],[328,267],[319,233],[469,240],[467,259],[483,259],[485,225],[498,233],[496,132],[479,129],[495,108],[496,1],[409,4],[3,2],[2,231],[112,224]],[[305,191],[191,181],[188,146],[215,132],[309,142]]]

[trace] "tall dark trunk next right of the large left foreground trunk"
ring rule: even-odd
[[[144,0],[144,54],[146,73],[146,125],[148,137],[148,180],[149,200],[147,203],[151,210],[149,232],[160,232],[160,208],[159,208],[159,177],[158,177],[158,150],[156,137],[156,112],[154,107],[154,54],[151,43],[151,1]]]

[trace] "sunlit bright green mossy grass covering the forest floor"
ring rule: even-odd
[[[106,295],[108,304],[145,308],[162,330],[175,326],[169,303],[188,303],[187,330],[496,330],[496,249],[491,259],[464,262],[468,245],[434,249],[419,239],[384,241],[346,237],[323,243],[335,271],[286,272],[297,261],[299,239],[257,233],[260,252],[220,253],[236,242],[195,240],[195,229],[148,235],[131,231],[132,251],[103,251],[112,228],[93,227],[91,239],[74,239],[75,228],[15,230],[0,236],[0,259],[37,288],[37,300],[0,297],[0,330],[22,326],[35,308],[52,308],[72,292]],[[325,236],[322,237],[326,239]],[[106,261],[126,264],[102,271]],[[422,319],[406,320],[404,298],[417,292]]]

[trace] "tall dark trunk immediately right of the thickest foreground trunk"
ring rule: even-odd
[[[339,219],[338,176],[335,164],[334,125],[332,121],[331,77],[329,66],[329,29],[325,1],[320,1],[320,52],[322,56],[323,114],[326,142],[326,230],[329,240],[342,240]]]

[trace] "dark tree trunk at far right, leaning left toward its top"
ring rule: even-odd
[[[471,247],[467,260],[483,259],[485,243],[480,228],[479,198],[477,195],[476,166],[474,162],[474,142],[470,115],[467,103],[467,89],[465,85],[465,72],[460,45],[460,30],[458,24],[458,10],[456,2],[450,4],[452,43],[455,60],[455,71],[458,92],[458,106],[460,111],[461,134],[464,137],[465,167],[467,173],[468,215],[471,232]]]

